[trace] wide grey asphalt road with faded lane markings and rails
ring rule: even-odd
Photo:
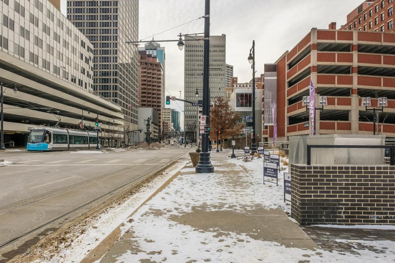
[[[0,249],[48,222],[66,215],[72,220],[72,211],[88,210],[92,201],[190,149],[168,145],[100,154],[0,152],[0,160],[14,162],[0,167]]]

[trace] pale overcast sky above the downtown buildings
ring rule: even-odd
[[[210,34],[226,35],[226,63],[234,67],[239,82],[252,79],[247,57],[255,40],[256,75],[263,73],[265,63],[274,63],[291,50],[311,28],[337,28],[346,23],[346,16],[363,0],[211,0]],[[168,30],[204,15],[204,0],[140,0],[139,39]],[[62,12],[66,0],[62,0]],[[198,19],[154,39],[178,39],[177,35],[200,33],[204,19]],[[148,39],[152,39],[148,38]],[[184,51],[177,42],[161,43],[166,48],[166,95],[184,94]],[[171,108],[184,109],[183,103],[171,102]],[[181,114],[181,128],[183,127]]]

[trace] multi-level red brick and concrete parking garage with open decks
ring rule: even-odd
[[[313,28],[276,62],[277,141],[311,134],[309,112],[302,106],[310,79],[327,106],[316,111],[316,134],[373,134],[373,114],[362,97],[387,97],[376,134],[395,137],[395,33]],[[266,88],[266,86],[265,86]],[[266,92],[266,90],[265,90]],[[318,102],[317,102],[318,105]],[[318,106],[317,106],[318,107]],[[273,140],[273,126],[263,123],[263,137]]]

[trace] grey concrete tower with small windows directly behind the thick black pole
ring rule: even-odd
[[[187,36],[185,39],[201,39],[202,36]],[[202,100],[203,88],[203,41],[185,41],[184,53],[184,98]],[[225,97],[226,92],[226,36],[210,36],[210,97]],[[196,89],[199,96],[196,97]],[[184,104],[184,131],[194,135],[197,107]]]

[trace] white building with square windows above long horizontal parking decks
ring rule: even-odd
[[[58,121],[61,128],[77,128],[81,121],[94,126],[97,114],[100,122],[111,119],[119,130],[121,108],[92,89],[93,45],[88,39],[49,0],[1,1],[0,6],[0,82],[8,87],[6,147],[9,141],[26,146],[37,126]]]

